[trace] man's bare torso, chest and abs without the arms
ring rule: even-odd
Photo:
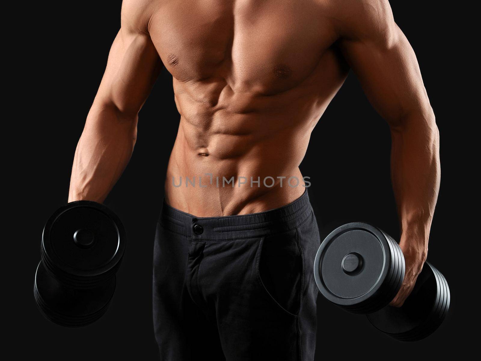
[[[181,115],[166,201],[214,216],[261,212],[301,196],[299,164],[311,131],[348,70],[333,48],[335,32],[322,22],[322,6],[293,0],[157,6],[149,33],[173,75]],[[224,182],[232,176],[234,184]],[[260,182],[251,187],[251,177]]]

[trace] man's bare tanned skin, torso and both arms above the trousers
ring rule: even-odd
[[[124,0],[121,29],[77,145],[69,201],[102,202],[110,192],[130,159],[139,110],[162,65],[173,76],[180,113],[165,197],[199,217],[262,212],[300,197],[299,164],[311,132],[353,69],[391,128],[406,260],[392,305],[403,304],[428,251],[439,133],[416,56],[387,0]],[[232,176],[234,187],[222,187],[222,177]],[[251,176],[260,184],[250,187]],[[273,187],[263,184],[266,176]],[[287,185],[291,176],[298,187]],[[173,177],[176,185],[182,178],[181,187]],[[195,177],[195,187],[185,187],[186,177]],[[240,177],[247,184],[238,187]],[[277,177],[286,177],[282,187]]]

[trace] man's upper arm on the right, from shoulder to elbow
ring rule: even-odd
[[[433,118],[416,55],[387,0],[348,0],[339,16],[340,47],[380,115],[391,125],[418,113]]]

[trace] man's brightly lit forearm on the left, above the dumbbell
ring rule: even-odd
[[[75,151],[69,202],[107,197],[132,155],[137,120],[137,114],[94,102]]]

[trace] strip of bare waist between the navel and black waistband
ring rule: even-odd
[[[202,165],[196,168],[195,173],[177,173],[168,167],[165,202],[180,211],[201,217],[275,209],[299,198],[310,186],[310,178],[304,177],[299,168],[280,171],[277,167],[272,170],[264,167],[259,171],[246,168],[236,172],[218,171],[215,167],[211,170]]]

